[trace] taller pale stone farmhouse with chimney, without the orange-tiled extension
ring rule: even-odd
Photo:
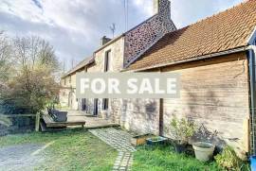
[[[166,33],[174,30],[176,27],[171,20],[170,1],[154,0],[152,17],[113,40],[103,37],[101,47],[94,52],[91,58],[82,60],[62,77],[61,104],[72,110],[87,111],[95,115],[101,113],[102,110],[110,111],[108,107],[113,107],[113,105],[119,106],[119,100],[114,99],[77,99],[75,95],[76,74],[80,72],[120,72]]]

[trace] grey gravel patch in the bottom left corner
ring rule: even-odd
[[[40,154],[33,152],[44,145],[11,145],[0,148],[0,171],[30,171],[44,162]]]

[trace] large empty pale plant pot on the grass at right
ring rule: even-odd
[[[215,145],[210,143],[198,142],[192,145],[195,158],[201,162],[208,162],[212,159]]]

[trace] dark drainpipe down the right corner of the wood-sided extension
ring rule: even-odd
[[[256,78],[255,78],[255,46],[249,46],[247,51],[248,67],[249,67],[249,87],[250,87],[250,118],[251,118],[251,153],[256,155]]]

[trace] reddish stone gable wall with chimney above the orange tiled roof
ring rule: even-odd
[[[124,67],[137,59],[164,34],[176,30],[170,1],[158,0],[158,13],[125,34]]]

